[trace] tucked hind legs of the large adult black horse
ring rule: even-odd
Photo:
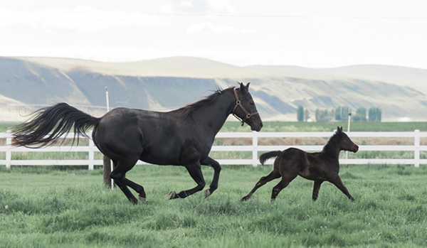
[[[119,186],[119,188],[125,193],[127,199],[130,200],[131,203],[137,204],[137,198],[130,192],[130,188],[137,191],[139,200],[145,201],[146,195],[144,188],[137,184],[132,182],[131,180],[127,179],[126,173],[127,171],[130,171],[135,166],[135,163],[137,163],[138,159],[128,159],[128,160],[121,160],[117,161],[117,166],[115,166],[114,170],[110,173],[110,178],[115,180],[115,183]]]

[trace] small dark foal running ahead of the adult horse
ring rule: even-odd
[[[281,176],[282,180],[274,186],[273,192],[271,193],[271,200],[274,200],[280,193],[280,190],[283,190],[294,178],[300,175],[303,178],[315,181],[312,195],[313,200],[317,199],[320,185],[326,180],[333,183],[342,193],[347,195],[350,200],[354,201],[349,190],[347,190],[341,178],[338,176],[338,157],[339,151],[341,150],[357,152],[359,146],[354,144],[347,134],[344,134],[342,127],[338,127],[337,132],[330,138],[321,152],[307,153],[300,149],[290,148],[285,151],[270,151],[268,153],[263,153],[260,156],[260,163],[262,165],[264,165],[268,158],[277,156],[274,161],[273,171],[268,174],[268,176],[263,176],[258,183],[255,184],[251,192],[241,200],[248,200],[255,190],[265,183],[270,182],[270,180],[280,178]]]

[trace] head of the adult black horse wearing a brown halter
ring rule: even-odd
[[[253,102],[252,96],[249,93],[249,84],[245,86],[240,83],[239,89],[233,89],[236,97],[236,104],[233,108],[233,115],[238,119],[241,119],[242,126],[243,122],[251,126],[252,131],[260,131],[263,127],[263,121],[261,120],[258,110],[256,110],[255,102]]]

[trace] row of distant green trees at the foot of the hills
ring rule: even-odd
[[[347,106],[337,107],[336,109],[316,109],[315,118],[316,122],[347,122],[349,120],[349,113],[352,109]],[[367,117],[368,113],[368,117]],[[353,122],[381,122],[381,109],[378,107],[371,107],[367,112],[364,107],[356,109],[356,114],[352,115]],[[310,119],[310,113],[301,105],[297,108],[298,122],[307,122]]]

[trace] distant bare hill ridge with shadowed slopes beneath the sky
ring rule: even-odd
[[[294,66],[238,67],[201,58],[174,57],[130,63],[66,58],[0,58],[0,103],[68,102],[167,110],[195,102],[216,87],[251,82],[265,120],[296,120],[302,105],[315,109],[380,107],[384,120],[427,119],[427,70],[386,65],[310,69]],[[12,111],[14,111],[12,109]],[[100,113],[98,113],[100,114]],[[0,116],[0,120],[1,120]]]

